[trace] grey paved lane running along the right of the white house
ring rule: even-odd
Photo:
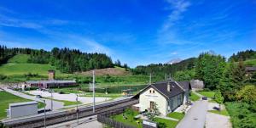
[[[206,122],[207,108],[207,101],[196,101],[183,120],[177,124],[177,128],[203,128]]]

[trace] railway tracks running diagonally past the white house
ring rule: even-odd
[[[95,107],[95,113],[92,112],[92,106],[79,109],[79,118],[88,117],[95,114],[100,114],[112,109],[126,108],[132,104],[138,103],[137,99],[129,98],[111,103],[98,104]],[[46,125],[55,125],[65,121],[76,120],[76,109],[61,110],[58,112],[46,113]],[[25,118],[3,120],[3,125],[10,128],[37,128],[44,126],[44,114],[36,114]]]

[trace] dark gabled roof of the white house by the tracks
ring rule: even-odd
[[[180,83],[178,83],[176,81],[169,81],[169,83],[170,83],[170,87],[171,87],[171,92],[167,91],[168,82],[167,81],[160,81],[160,82],[156,82],[152,85],[149,85],[149,86],[145,87],[141,92],[137,93],[137,95],[135,95],[134,97],[138,97],[138,95],[140,95],[140,93],[144,92],[149,87],[154,88],[157,92],[160,92],[160,94],[162,94],[166,98],[174,97],[174,96],[176,96],[180,93],[183,93],[183,92],[186,91],[186,88],[191,89],[189,81],[186,81],[186,82],[182,81]],[[183,86],[185,88],[183,88]]]

